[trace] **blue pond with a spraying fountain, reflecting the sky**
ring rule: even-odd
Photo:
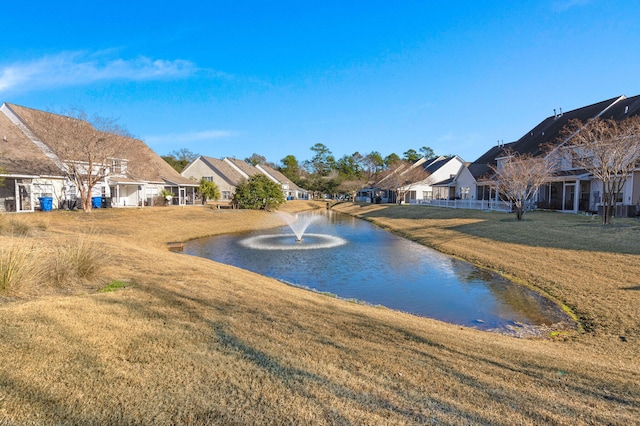
[[[369,222],[323,211],[299,214],[297,223],[308,223],[301,242],[285,225],[190,241],[184,253],[340,298],[487,331],[530,336],[575,328],[540,294]]]

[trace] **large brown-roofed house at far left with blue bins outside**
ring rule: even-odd
[[[68,148],[81,143],[77,135],[65,133],[70,120],[75,119],[9,103],[0,106],[1,211],[46,209],[42,200],[49,200],[53,209],[79,207],[80,191],[68,173],[71,164],[87,173],[99,169],[104,176],[90,194],[100,201],[94,207],[151,206],[162,190],[174,194],[174,204],[193,203],[197,183],[182,177],[141,140],[117,136],[113,141],[119,149],[108,164],[70,158],[74,151]],[[84,125],[99,134],[89,123]],[[53,136],[52,126],[61,137]]]

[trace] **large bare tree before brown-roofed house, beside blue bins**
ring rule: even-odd
[[[74,110],[66,115],[45,113],[39,133],[62,163],[74,183],[85,212],[91,211],[94,188],[112,172],[126,167],[122,158],[129,133],[114,119],[88,116]]]

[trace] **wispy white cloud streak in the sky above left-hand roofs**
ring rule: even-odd
[[[43,58],[0,65],[0,92],[64,86],[99,81],[184,78],[197,71],[185,60],[107,58],[104,54],[64,52]]]

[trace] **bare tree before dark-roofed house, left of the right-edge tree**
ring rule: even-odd
[[[556,169],[556,162],[551,157],[533,157],[506,150],[505,158],[492,169],[498,192],[512,203],[516,218],[521,220],[527,203]]]

